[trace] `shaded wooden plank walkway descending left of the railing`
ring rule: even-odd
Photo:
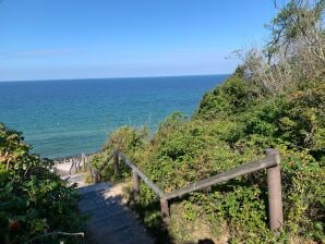
[[[79,188],[81,212],[89,215],[86,232],[91,243],[142,244],[154,243],[136,215],[122,204],[122,196],[108,196],[110,183]]]

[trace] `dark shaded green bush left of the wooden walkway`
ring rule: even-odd
[[[0,123],[0,243],[25,243],[53,231],[80,231],[74,187],[53,172],[52,161],[29,152],[22,134]],[[67,239],[60,239],[67,240]],[[70,239],[68,239],[70,240]],[[70,243],[80,241],[70,240]],[[33,243],[58,242],[39,239]]]

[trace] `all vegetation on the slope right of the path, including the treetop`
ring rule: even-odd
[[[164,228],[159,199],[141,184],[134,208],[158,243],[324,243],[324,1],[291,0],[266,27],[262,49],[237,52],[242,64],[206,93],[192,118],[174,112],[152,135],[146,126],[113,132],[96,166],[119,149],[165,192],[249,162],[277,148],[285,223],[268,228],[266,173],[241,176],[171,204]],[[101,175],[113,179],[112,169]],[[118,180],[130,182],[121,166]]]

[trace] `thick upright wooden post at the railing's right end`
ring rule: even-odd
[[[269,229],[277,232],[284,225],[281,173],[279,151],[273,148],[266,149],[266,155],[274,156],[277,166],[267,168]]]

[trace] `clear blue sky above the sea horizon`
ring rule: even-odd
[[[0,81],[230,73],[272,0],[0,0]]]

